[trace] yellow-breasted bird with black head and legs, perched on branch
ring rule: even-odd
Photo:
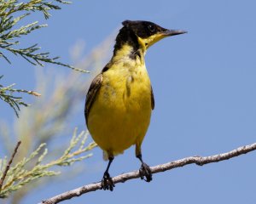
[[[154,110],[154,93],[145,66],[145,54],[155,42],[186,32],[168,30],[146,20],[122,22],[113,57],[91,82],[84,107],[90,135],[103,150],[103,158],[108,160],[101,182],[103,190],[112,191],[115,187],[108,173],[114,156],[133,144],[136,157],[141,161],[140,177],[147,182],[152,180],[141,149]]]

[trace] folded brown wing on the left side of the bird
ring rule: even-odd
[[[90,88],[86,95],[85,107],[84,107],[84,116],[85,116],[86,125],[88,123],[88,116],[89,116],[91,105],[96,99],[96,95],[102,86],[102,78],[103,78],[102,73],[97,75],[94,78],[94,80],[90,84]]]

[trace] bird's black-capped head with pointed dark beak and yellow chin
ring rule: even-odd
[[[115,51],[125,43],[131,45],[135,50],[138,48],[146,50],[164,37],[186,33],[186,31],[168,30],[144,20],[125,20],[122,24],[123,27],[116,37]]]

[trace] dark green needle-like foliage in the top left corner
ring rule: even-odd
[[[68,3],[61,0],[55,0],[58,3]],[[0,48],[9,51],[12,54],[20,55],[32,65],[41,65],[42,63],[51,63],[56,65],[64,65],[69,68],[75,69],[71,65],[67,65],[56,61],[59,57],[49,57],[49,52],[38,51],[41,49],[38,44],[31,45],[27,48],[15,48],[20,44],[17,40],[18,37],[30,34],[32,31],[36,31],[47,25],[38,25],[38,21],[32,22],[26,26],[18,26],[20,20],[23,20],[32,12],[39,11],[44,14],[45,19],[48,19],[50,14],[49,10],[61,9],[60,6],[53,4],[53,2],[46,2],[44,0],[31,0],[27,3],[18,3],[17,0],[1,0],[0,3]],[[18,15],[15,17],[15,15]],[[15,28],[18,26],[18,28]],[[0,57],[6,59],[9,63],[10,60],[3,51],[0,52]]]

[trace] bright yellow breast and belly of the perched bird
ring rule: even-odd
[[[151,116],[151,87],[146,68],[103,73],[99,90],[88,116],[92,138],[108,155],[123,153],[141,144]]]

